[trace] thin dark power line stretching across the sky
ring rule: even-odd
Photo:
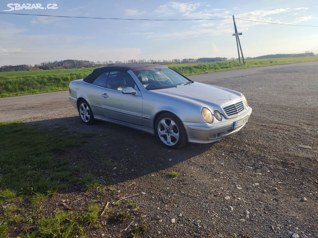
[[[88,18],[88,19],[106,19],[106,20],[128,20],[128,21],[211,21],[211,20],[228,20],[232,18],[206,18],[206,19],[136,19],[136,18],[110,18],[110,17],[73,17],[73,16],[55,16],[55,15],[39,15],[39,14],[24,14],[24,13],[11,13],[11,12],[0,12],[2,14],[12,14],[12,15],[25,15],[25,16],[39,16],[39,17],[65,17],[65,18]],[[273,22],[261,22],[247,19],[235,18],[241,21],[249,22],[259,22],[266,24],[276,24],[276,25],[287,25],[287,26],[306,26],[306,27],[318,27],[311,25],[295,25],[295,24],[285,24],[285,23],[273,23]]]

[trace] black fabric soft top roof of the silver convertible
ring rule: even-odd
[[[128,70],[136,71],[142,69],[156,69],[156,68],[168,68],[167,66],[160,64],[115,64],[111,66],[101,67],[94,69],[91,74],[86,76],[83,81],[86,83],[93,83],[93,81],[102,73],[107,71],[121,71],[127,72]]]

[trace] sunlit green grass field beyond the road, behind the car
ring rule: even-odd
[[[240,65],[239,61],[169,64],[167,66],[179,71],[183,75],[196,75],[232,69],[246,69],[308,61],[318,61],[318,56],[246,60],[244,66]],[[0,97],[67,90],[70,81],[84,78],[90,74],[93,69],[94,68],[0,72]]]

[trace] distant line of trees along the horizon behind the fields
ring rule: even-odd
[[[286,58],[286,57],[301,57],[301,56],[314,56],[313,52],[306,51],[301,54],[275,54],[275,55],[264,55],[258,57],[246,57],[246,59],[268,59],[268,58]],[[217,62],[217,61],[228,61],[238,60],[238,58],[225,58],[225,57],[214,57],[214,58],[188,58],[188,59],[173,59],[173,60],[127,60],[127,61],[88,61],[88,60],[61,60],[61,61],[48,61],[34,66],[29,64],[20,65],[4,65],[0,67],[0,72],[3,71],[23,71],[23,70],[45,70],[45,69],[76,69],[76,68],[93,68],[108,66],[113,64],[122,63],[149,63],[149,64],[181,64],[181,63],[206,63],[206,62]]]

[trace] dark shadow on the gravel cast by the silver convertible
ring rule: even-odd
[[[179,149],[168,149],[155,136],[124,126],[97,121],[93,125],[81,122],[78,116],[36,122],[41,127],[67,132],[81,145],[56,153],[59,159],[78,166],[80,176],[94,175],[106,185],[118,184],[160,170],[172,171],[185,160],[203,154],[211,144],[188,143]]]

